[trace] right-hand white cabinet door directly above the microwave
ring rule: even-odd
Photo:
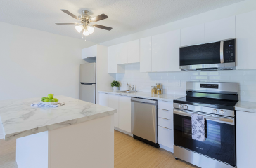
[[[205,23],[205,43],[236,38],[236,16]]]

